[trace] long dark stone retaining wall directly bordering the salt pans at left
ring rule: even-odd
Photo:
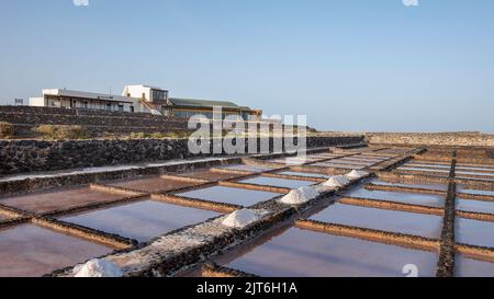
[[[310,137],[307,148],[350,145],[363,137]],[[259,147],[259,142],[258,147]],[[273,140],[270,140],[272,150]],[[248,147],[248,142],[246,142]],[[0,175],[33,171],[117,165],[192,157],[188,139],[139,140],[0,140]]]

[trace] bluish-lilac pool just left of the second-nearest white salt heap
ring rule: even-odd
[[[61,220],[147,242],[171,230],[218,215],[209,210],[144,200],[65,217]]]

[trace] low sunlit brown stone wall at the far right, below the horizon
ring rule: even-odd
[[[494,147],[494,135],[481,133],[368,133],[374,145],[413,145],[449,147]]]

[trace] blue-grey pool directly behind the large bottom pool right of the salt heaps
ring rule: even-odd
[[[335,204],[311,217],[336,225],[439,239],[442,218],[431,215]]]

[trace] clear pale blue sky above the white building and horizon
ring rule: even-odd
[[[2,1],[0,101],[147,83],[327,130],[494,133],[493,0],[72,1]]]

